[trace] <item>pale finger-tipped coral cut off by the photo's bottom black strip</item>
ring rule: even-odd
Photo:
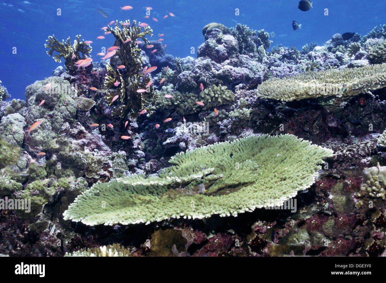
[[[99,248],[92,248],[83,251],[74,251],[64,256],[130,256],[132,251],[121,246],[120,244],[112,244],[108,246],[100,246]]]

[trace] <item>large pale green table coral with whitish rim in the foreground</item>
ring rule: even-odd
[[[330,149],[288,134],[216,143],[176,154],[170,160],[174,166],[158,177],[94,184],[63,215],[87,225],[237,216],[296,196],[314,183],[318,164],[331,155]]]

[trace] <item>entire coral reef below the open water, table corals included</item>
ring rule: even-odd
[[[196,58],[102,31],[50,35],[25,101],[0,85],[1,254],[386,256],[385,25],[296,50],[209,23]]]

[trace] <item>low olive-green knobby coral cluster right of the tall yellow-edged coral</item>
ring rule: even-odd
[[[162,92],[162,94],[166,94],[166,92]],[[217,86],[212,85],[207,89],[204,89],[200,92],[198,97],[196,94],[186,93],[183,94],[181,92],[167,92],[167,94],[173,95],[172,98],[165,98],[163,95],[159,95],[159,98],[156,100],[156,109],[170,110],[175,109],[181,115],[193,114],[197,111],[207,110],[213,107],[218,107],[220,105],[229,104],[234,100],[234,93],[232,90],[227,89],[226,86],[222,86],[221,84]],[[195,102],[199,100],[203,102],[205,105],[200,106]]]

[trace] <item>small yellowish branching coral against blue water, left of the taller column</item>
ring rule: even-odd
[[[74,44],[71,46],[71,40],[68,37],[66,41],[62,39],[62,42],[59,42],[55,38],[55,35],[50,35],[44,44],[44,47],[49,48],[47,54],[55,59],[56,62],[62,62],[61,58],[64,58],[64,65],[66,67],[66,72],[69,73],[70,70],[75,70],[76,67],[74,62],[80,59],[86,59],[91,54],[91,46],[90,44],[86,44],[85,40],[80,41],[81,35],[76,35],[76,40],[74,40]],[[54,54],[54,52],[58,52],[58,54]],[[79,54],[82,54],[81,57]],[[74,55],[74,58],[72,58]]]

